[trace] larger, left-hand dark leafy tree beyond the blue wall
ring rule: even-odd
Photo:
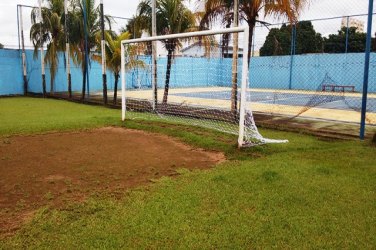
[[[289,55],[292,45],[292,29],[291,25],[286,24],[279,29],[271,29],[260,49],[260,55]],[[297,55],[323,52],[323,38],[320,33],[316,33],[310,21],[297,23],[295,44],[295,54]]]

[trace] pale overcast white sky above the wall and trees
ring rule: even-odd
[[[99,0],[96,0],[99,3]],[[119,17],[132,17],[136,13],[137,5],[140,0],[104,0],[105,14]],[[17,4],[37,5],[37,0],[1,0],[0,1],[0,43],[8,48],[18,48],[18,31],[17,31]],[[191,0],[190,7],[195,6],[194,0]],[[374,8],[376,10],[376,8]],[[316,19],[334,16],[363,14],[368,11],[368,0],[311,0],[310,5],[302,12],[300,19]],[[375,11],[374,11],[375,12]],[[30,30],[30,9],[25,8],[23,11],[25,43],[31,46],[28,39]],[[362,21],[366,21],[366,17],[359,17]],[[115,19],[117,23],[114,29],[124,26],[126,21]],[[271,23],[280,22],[281,20],[266,19]],[[376,26],[376,18],[374,20]],[[330,33],[336,33],[341,25],[341,20],[317,21],[313,23],[315,29],[324,36]],[[268,30],[259,28],[256,30],[255,44],[261,46]]]

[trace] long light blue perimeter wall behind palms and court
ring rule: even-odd
[[[42,92],[41,66],[33,51],[27,51],[27,71],[29,91]],[[145,57],[147,64],[150,58]],[[232,59],[175,58],[171,71],[172,88],[231,86]],[[163,88],[166,74],[166,58],[158,60],[158,87]],[[250,87],[288,89],[290,84],[290,56],[255,57],[251,60]],[[72,90],[81,91],[81,69],[72,65]],[[22,65],[18,50],[0,50],[0,95],[22,94]],[[369,91],[376,92],[376,53],[371,54]],[[177,71],[179,69],[179,72]],[[241,60],[239,60],[239,78]],[[293,60],[292,89],[316,90],[325,76],[329,76],[339,85],[354,85],[356,91],[362,91],[364,54],[314,54],[298,55]],[[102,90],[101,66],[92,62],[90,68],[90,91]],[[108,72],[108,88],[114,88],[114,76]],[[47,91],[50,90],[50,74],[46,66]],[[127,88],[151,87],[151,74],[146,69],[133,70],[127,74]],[[120,88],[120,83],[119,83]],[[66,91],[64,55],[59,57],[59,68],[55,80],[55,91]]]

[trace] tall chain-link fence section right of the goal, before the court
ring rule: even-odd
[[[345,2],[318,2],[320,10],[342,15],[323,17],[317,7],[312,11],[308,8],[297,23],[263,23],[255,28],[250,65],[254,110],[270,115],[270,119],[278,116],[359,124],[368,1],[352,3],[353,7]],[[374,32],[373,28],[366,108],[370,128],[376,125]]]

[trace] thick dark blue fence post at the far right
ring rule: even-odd
[[[366,42],[366,56],[364,62],[364,81],[363,81],[363,98],[362,98],[362,116],[360,120],[360,139],[364,140],[366,128],[366,113],[367,113],[367,95],[368,95],[368,78],[369,78],[369,63],[371,54],[371,36],[372,36],[372,18],[373,18],[373,0],[369,0],[368,6],[368,24],[367,24],[367,42]]]

